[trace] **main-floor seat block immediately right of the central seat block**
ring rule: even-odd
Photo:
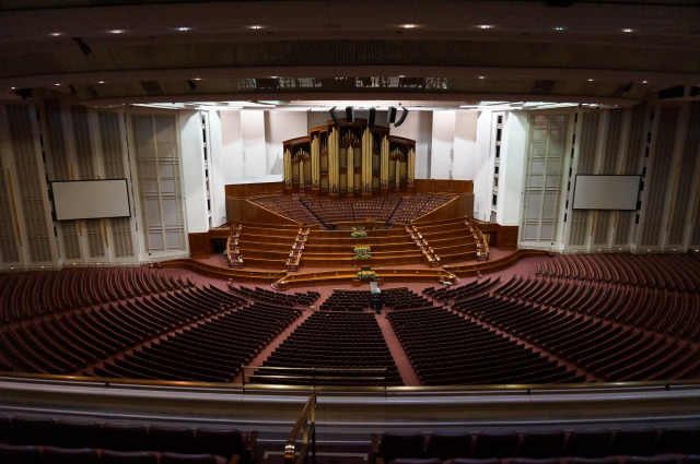
[[[558,383],[576,371],[443,308],[387,316],[423,384]]]

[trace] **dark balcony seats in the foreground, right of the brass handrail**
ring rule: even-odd
[[[572,457],[578,459],[575,464],[621,464],[629,463],[630,456],[637,457],[632,461],[635,464],[672,464],[692,455],[695,455],[692,462],[699,462],[698,454],[700,454],[700,426],[697,425],[526,432],[387,431],[372,436],[371,464],[390,462],[438,464],[443,461],[453,464],[497,464],[501,462],[500,460],[515,464],[560,464],[571,463]],[[664,459],[670,461],[667,462]]]

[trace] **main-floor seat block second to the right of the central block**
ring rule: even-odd
[[[696,344],[604,319],[491,295],[453,308],[607,381],[682,379],[700,367]]]

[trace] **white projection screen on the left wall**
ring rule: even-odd
[[[129,217],[127,179],[51,182],[56,221]]]

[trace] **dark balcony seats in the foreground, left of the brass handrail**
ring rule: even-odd
[[[0,416],[7,464],[254,464],[257,432]]]

